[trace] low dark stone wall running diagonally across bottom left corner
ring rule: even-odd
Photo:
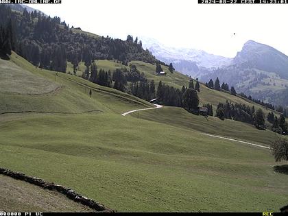
[[[31,184],[36,184],[36,185],[42,187],[43,189],[48,189],[51,191],[58,191],[64,195],[66,195],[67,197],[69,197],[69,199],[71,199],[75,202],[80,202],[81,204],[84,204],[85,206],[89,206],[90,208],[92,208],[96,211],[99,211],[99,212],[115,212],[109,208],[106,208],[104,205],[100,204],[99,202],[95,202],[94,200],[88,199],[87,197],[84,197],[84,196],[76,193],[72,189],[68,189],[68,188],[63,187],[59,184],[54,184],[53,182],[46,182],[43,179],[31,177],[31,176],[26,176],[23,173],[11,171],[10,169],[4,169],[1,167],[0,167],[0,174],[3,174],[5,176],[10,176],[10,177],[17,179],[17,180],[23,180],[23,181],[29,182]]]

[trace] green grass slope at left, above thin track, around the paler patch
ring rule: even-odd
[[[74,75],[47,71],[34,67],[32,64],[16,55],[11,56],[10,62],[14,67],[20,67],[29,71],[34,77],[47,80],[60,89],[53,93],[43,95],[29,95],[24,90],[22,93],[0,92],[0,114],[6,112],[62,112],[81,113],[91,111],[122,113],[133,108],[151,107],[147,101],[143,101],[132,95],[121,93],[113,88],[106,88],[83,80]],[[13,62],[13,63],[12,63]],[[11,83],[13,88],[21,88],[18,83]],[[91,98],[88,95],[92,89]]]

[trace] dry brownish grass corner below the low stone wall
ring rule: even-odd
[[[77,204],[66,196],[0,175],[0,211],[18,212],[91,212],[91,208]]]

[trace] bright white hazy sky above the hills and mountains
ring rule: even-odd
[[[29,5],[101,36],[155,38],[234,57],[247,40],[288,55],[288,5],[200,5],[197,0],[62,0]],[[236,33],[234,35],[234,33]]]

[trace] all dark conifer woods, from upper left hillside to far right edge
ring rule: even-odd
[[[65,73],[67,61],[69,61],[73,64],[75,74],[79,63],[84,62],[86,66],[82,75],[84,79],[130,93],[147,101],[156,98],[159,104],[183,107],[192,112],[197,110],[199,105],[197,92],[200,92],[200,83],[198,80],[195,86],[191,80],[189,88],[182,86],[182,90],[160,81],[156,89],[154,80],[148,82],[133,64],[129,65],[130,69],[122,68],[115,71],[97,69],[95,60],[116,60],[126,66],[132,60],[140,60],[156,65],[156,73],[163,71],[161,64],[168,66],[157,60],[148,50],[144,50],[141,40],[134,39],[130,35],[126,40],[120,40],[109,36],[77,33],[73,32],[73,27],[69,27],[57,16],[51,18],[41,12],[27,12],[27,10],[14,12],[8,6],[0,5],[0,45],[1,56],[8,57],[6,55],[10,55],[13,50],[36,67],[52,71]],[[173,73],[174,70],[173,65],[170,64],[169,71]],[[233,86],[229,88],[226,83],[220,84],[218,77],[215,82],[210,80],[206,86],[215,91],[227,91],[231,95],[237,95]],[[243,93],[238,95],[275,110],[272,104],[252,99],[251,96],[247,97]],[[207,115],[213,116],[212,105],[204,104],[203,106],[208,110]],[[283,117],[287,116],[285,109],[282,108],[281,111],[281,108],[278,108],[277,111],[283,112]],[[231,104],[228,101],[226,104],[219,103],[215,116],[223,120],[233,119],[254,123],[259,129],[265,128],[265,117],[262,112],[243,104]],[[257,118],[259,121],[255,120]],[[270,122],[274,124],[272,127],[274,132],[287,134],[285,118],[283,121],[283,118],[275,117]]]

